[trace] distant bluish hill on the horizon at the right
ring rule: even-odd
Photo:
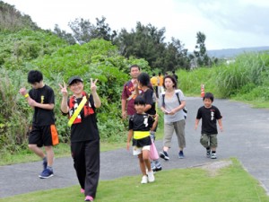
[[[214,50],[207,50],[207,54],[209,57],[230,58],[230,57],[236,57],[237,55],[242,53],[260,52],[265,50],[269,50],[269,47],[214,49]]]

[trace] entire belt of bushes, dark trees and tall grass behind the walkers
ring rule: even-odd
[[[56,126],[61,142],[68,142],[69,128],[66,126],[66,118],[59,110],[61,94],[58,83],[66,82],[72,75],[82,76],[88,92],[90,78],[99,79],[98,92],[102,101],[102,107],[98,111],[100,136],[104,141],[120,142],[126,139],[126,122],[121,119],[120,96],[122,86],[128,80],[128,67],[137,64],[142,67],[144,72],[152,74],[152,72],[159,71],[164,73],[175,66],[184,67],[189,62],[188,57],[184,57],[187,52],[182,48],[180,41],[173,40],[168,46],[163,46],[164,30],[158,31],[152,25],[143,26],[138,23],[136,31],[131,33],[123,31],[119,35],[121,40],[118,40],[113,34],[115,32],[111,31],[102,19],[98,20],[98,24],[95,26],[99,31],[94,32],[96,38],[89,42],[72,44],[70,42],[70,39],[74,39],[72,35],[63,34],[63,31],[60,30],[57,34],[42,31],[30,21],[29,16],[21,15],[14,10],[13,6],[10,7],[1,1],[0,5],[8,16],[4,17],[3,14],[0,16],[0,154],[16,153],[27,148],[32,110],[18,91],[22,86],[30,89],[26,77],[31,69],[39,69],[45,76],[45,83],[51,86],[56,93]],[[16,13],[13,17],[17,16],[21,20],[8,23],[6,19],[9,19],[12,13]],[[79,22],[77,21],[77,23]],[[88,25],[88,28],[92,29],[91,23]],[[76,23],[72,26],[74,26],[74,30],[77,28]],[[105,29],[101,29],[103,26]],[[139,44],[136,44],[134,39],[137,39],[138,35],[148,33],[147,31],[152,33],[149,35],[151,37],[148,39],[141,37],[140,39],[143,39],[144,42],[140,41]],[[65,37],[58,37],[60,33]],[[103,35],[99,35],[100,33]],[[108,33],[109,35],[107,35]],[[156,34],[157,39],[154,38]],[[69,40],[66,38],[67,35]],[[201,64],[203,61],[206,62],[204,66],[207,67],[193,70],[190,70],[190,66],[178,68],[179,87],[185,93],[199,95],[200,85],[204,83],[206,91],[211,91],[221,98],[237,98],[247,101],[269,100],[268,53],[244,54],[237,57],[235,62],[230,65],[222,63],[208,67],[209,60],[204,47],[204,34],[199,32],[197,40],[200,49],[203,50],[200,54],[195,53],[197,61]],[[126,42],[119,43],[118,41]],[[123,46],[125,43],[126,46]],[[130,44],[127,46],[127,43]],[[148,45],[147,48],[143,48],[143,44]],[[161,57],[160,52],[151,52],[150,47],[157,45],[174,55],[164,54]],[[137,54],[142,50],[146,52],[139,52],[139,56],[128,55],[131,47],[132,51],[136,51]],[[154,49],[152,47],[152,50]],[[123,53],[126,56],[123,56]],[[144,54],[147,57],[143,57],[146,56]],[[172,55],[179,58],[177,54],[183,54],[180,55],[181,65],[170,63],[168,68],[168,62],[174,61]]]

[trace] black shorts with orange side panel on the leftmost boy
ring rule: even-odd
[[[29,145],[57,145],[59,143],[58,134],[55,125],[50,126],[32,126],[28,138]]]

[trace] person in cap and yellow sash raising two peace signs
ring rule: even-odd
[[[72,76],[67,83],[73,92],[69,99],[65,83],[64,86],[60,84],[63,94],[61,110],[68,114],[74,169],[85,201],[93,201],[96,197],[100,177],[100,134],[96,109],[100,108],[101,102],[96,92],[96,82],[91,79],[91,94],[87,94],[83,91],[82,78]]]

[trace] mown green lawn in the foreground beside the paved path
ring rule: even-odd
[[[141,176],[123,177],[117,180],[101,180],[96,202],[269,202],[257,180],[245,171],[236,159],[216,175],[201,168],[160,171],[155,182],[140,184]],[[12,201],[83,201],[79,186],[53,189],[2,198]],[[155,199],[153,199],[155,198]]]

